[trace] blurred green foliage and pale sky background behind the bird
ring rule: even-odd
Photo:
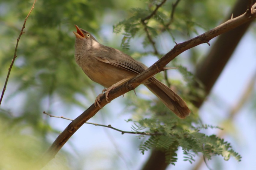
[[[158,15],[147,29],[136,18],[148,16],[157,5]],[[250,1],[248,1],[250,2]],[[246,11],[243,0],[73,0],[37,1],[20,38],[0,107],[0,169],[23,169],[40,157],[70,123],[43,114],[75,119],[103,87],[92,82],[74,59],[74,24],[101,43],[117,48],[151,66],[182,43]],[[253,1],[255,2],[255,1]],[[4,87],[17,38],[33,1],[0,2],[0,87]],[[130,23],[130,25],[129,25]],[[145,31],[147,30],[147,31]],[[187,101],[193,119],[223,128],[202,129],[229,142],[242,156],[238,162],[222,156],[192,164],[183,161],[159,169],[255,169],[256,147],[256,35],[255,21],[192,48],[174,59],[156,77]],[[192,74],[191,74],[192,73]],[[190,78],[186,75],[190,75]],[[192,78],[191,78],[192,77]],[[197,80],[204,87],[192,85]],[[205,90],[202,90],[205,89]],[[133,122],[161,110],[157,98],[144,86],[113,100],[88,122],[132,131]],[[154,101],[154,104],[152,104]],[[158,108],[159,107],[159,108]],[[152,109],[151,109],[152,108]],[[173,113],[170,113],[173,114]],[[171,115],[173,116],[173,115]],[[174,117],[174,116],[173,116]],[[139,150],[145,139],[101,126],[83,125],[44,169],[146,169],[155,151]],[[161,160],[155,159],[154,164]],[[208,167],[207,167],[208,166]]]

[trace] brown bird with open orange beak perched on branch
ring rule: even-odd
[[[125,83],[148,67],[136,61],[120,50],[100,44],[89,32],[77,25],[75,40],[76,63],[83,72],[94,82],[101,84],[108,101],[108,93],[115,87]],[[151,77],[143,83],[154,93],[174,114],[184,119],[191,111],[186,102],[165,84]],[[107,88],[107,90],[105,89]],[[95,107],[100,105],[100,94],[95,99]]]

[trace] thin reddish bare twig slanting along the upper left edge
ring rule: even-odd
[[[7,82],[8,82],[10,73],[11,73],[11,68],[12,68],[12,66],[13,66],[13,64],[14,64],[14,61],[15,61],[16,57],[17,57],[16,53],[17,53],[17,49],[18,49],[18,44],[19,44],[19,41],[20,41],[20,37],[21,37],[21,35],[24,33],[24,32],[23,32],[23,29],[25,28],[27,19],[28,19],[29,15],[30,15],[31,11],[34,9],[35,3],[36,3],[36,0],[34,0],[34,3],[33,3],[33,5],[32,5],[32,7],[31,7],[29,13],[27,14],[27,17],[25,18],[24,23],[23,23],[23,26],[22,26],[21,31],[20,31],[20,35],[19,35],[19,37],[17,38],[17,43],[16,43],[16,47],[15,47],[15,51],[14,51],[14,56],[13,56],[13,59],[11,60],[11,65],[10,65],[10,67],[8,68],[7,77],[6,77],[6,79],[5,79],[5,85],[4,85],[4,88],[3,88],[3,91],[2,91],[2,95],[1,95],[1,98],[0,98],[0,106],[1,106],[2,99],[3,99],[4,94],[5,94]]]

